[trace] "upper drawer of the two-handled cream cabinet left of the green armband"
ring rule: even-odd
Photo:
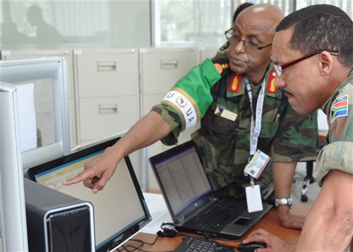
[[[136,95],[138,54],[83,52],[75,55],[79,97]]]

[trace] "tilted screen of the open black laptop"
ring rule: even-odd
[[[212,191],[192,141],[150,157],[150,163],[174,215]]]

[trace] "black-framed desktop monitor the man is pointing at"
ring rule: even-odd
[[[28,169],[37,183],[92,203],[96,251],[112,251],[152,220],[128,156],[121,160],[104,189],[92,193],[82,183],[63,186],[62,181],[83,172],[84,164],[113,145],[120,137],[104,140],[83,150]]]

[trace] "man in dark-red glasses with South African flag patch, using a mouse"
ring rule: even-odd
[[[244,242],[263,241],[258,251],[353,249],[353,22],[340,8],[309,6],[287,16],[273,40],[275,86],[300,114],[322,108],[328,145],[316,161],[321,191],[296,244],[260,229]],[[297,78],[300,73],[302,79]]]

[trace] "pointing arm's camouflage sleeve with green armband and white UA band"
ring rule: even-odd
[[[162,143],[176,143],[181,131],[201,120],[213,102],[210,90],[220,80],[220,73],[222,66],[206,59],[200,66],[192,68],[174,85],[162,102],[152,108],[172,128],[172,134],[164,138]]]

